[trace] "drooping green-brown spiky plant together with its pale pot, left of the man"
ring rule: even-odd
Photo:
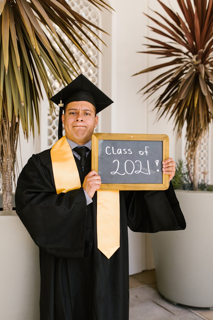
[[[102,0],[87,2],[99,9],[110,8]],[[100,39],[97,30],[101,29],[73,10],[66,0],[0,1],[0,172],[3,192],[0,234],[1,256],[5,257],[0,274],[1,296],[4,297],[1,316],[5,319],[16,319],[20,314],[25,315],[25,318],[21,316],[23,319],[39,317],[39,259],[35,256],[38,250],[15,211],[11,212],[19,124],[26,139],[30,132],[34,136],[34,119],[39,132],[38,103],[42,98],[42,87],[48,98],[53,95],[46,67],[64,85],[80,71],[61,33],[94,65],[84,46],[97,48],[90,36]],[[54,113],[50,100],[49,107]],[[29,288],[35,288],[35,292]]]

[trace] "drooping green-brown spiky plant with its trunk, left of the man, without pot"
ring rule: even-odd
[[[110,9],[102,0],[85,1],[99,9]],[[71,82],[71,75],[78,74],[80,70],[60,36],[60,30],[94,65],[83,47],[86,42],[88,47],[93,45],[97,48],[91,35],[100,39],[97,31],[101,29],[75,12],[66,0],[0,0],[0,171],[3,210],[12,210],[12,177],[15,178],[19,121],[26,139],[30,132],[34,136],[34,118],[39,131],[41,85],[48,98],[53,95],[45,67],[64,85]],[[49,107],[54,112],[51,101]]]

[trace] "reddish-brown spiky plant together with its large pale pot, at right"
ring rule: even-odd
[[[179,137],[186,123],[186,160],[193,189],[198,189],[198,163],[203,135],[213,117],[213,2],[177,0],[176,13],[160,0],[163,14],[155,12],[155,37],[143,53],[163,62],[137,74],[162,72],[141,90],[156,91],[158,119],[174,119]],[[162,59],[163,58],[163,59]],[[213,194],[176,192],[186,219],[186,230],[152,236],[159,291],[169,300],[197,307],[213,307]]]

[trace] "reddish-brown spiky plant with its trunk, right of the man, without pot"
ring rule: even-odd
[[[186,122],[186,158],[196,190],[201,139],[213,115],[213,1],[176,0],[179,13],[157,1],[164,14],[155,11],[156,19],[147,15],[156,24],[149,27],[156,36],[147,38],[152,44],[141,53],[158,55],[164,62],[137,74],[162,69],[141,90],[148,97],[161,90],[155,102],[157,119],[173,118],[178,136]]]

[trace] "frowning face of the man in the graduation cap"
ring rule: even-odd
[[[69,102],[62,115],[66,137],[79,145],[92,139],[92,134],[98,124],[95,107],[88,101]]]

